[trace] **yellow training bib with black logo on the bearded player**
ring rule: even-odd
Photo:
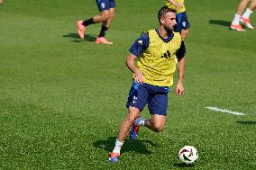
[[[173,85],[175,58],[180,48],[181,37],[178,32],[173,32],[173,38],[165,42],[156,30],[148,32],[150,44],[138,57],[137,67],[142,71],[145,83],[158,86]]]

